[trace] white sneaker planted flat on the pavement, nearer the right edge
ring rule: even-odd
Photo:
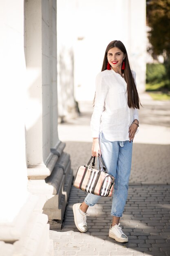
[[[112,225],[110,225],[108,236],[115,239],[117,242],[126,243],[128,242],[128,237],[124,234],[124,232],[121,230],[121,227],[119,227],[119,225],[120,223],[113,227]]]

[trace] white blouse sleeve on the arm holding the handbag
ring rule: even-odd
[[[91,117],[91,133],[92,138],[99,137],[100,122],[102,112],[104,111],[104,102],[106,99],[108,88],[104,83],[104,77],[99,73],[96,77],[95,106]]]

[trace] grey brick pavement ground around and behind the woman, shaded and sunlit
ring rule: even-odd
[[[73,221],[72,207],[74,203],[82,202],[86,193],[72,187],[63,227],[50,231],[54,256],[170,255],[170,102],[155,102],[145,97],[139,132],[147,128],[149,143],[139,135],[133,145],[128,200],[120,221],[129,242],[122,244],[108,237],[111,198],[101,198],[98,204],[89,207],[88,231],[80,233]],[[79,118],[59,126],[59,136],[66,141],[65,151],[71,154],[74,173],[77,166],[88,161],[91,152],[91,138],[88,140],[91,107],[84,104],[82,109]],[[153,132],[157,135],[155,139]]]

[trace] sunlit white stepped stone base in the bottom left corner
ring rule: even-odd
[[[41,207],[38,208],[38,202],[39,196],[30,195],[15,218],[14,225],[7,226],[4,239],[0,241],[0,255],[53,256],[48,216],[42,213]],[[15,239],[14,234],[17,234]]]

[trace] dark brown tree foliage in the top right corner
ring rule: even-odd
[[[163,54],[170,59],[170,0],[146,1],[147,25],[152,55]]]

